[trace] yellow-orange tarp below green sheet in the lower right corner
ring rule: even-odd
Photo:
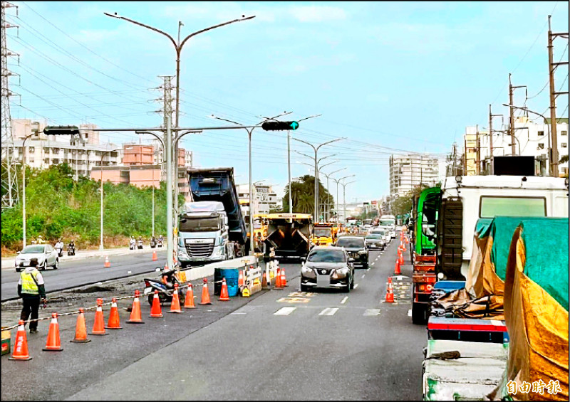
[[[515,381],[517,390],[524,382],[559,381],[561,391],[555,394],[546,389],[539,393],[531,386],[529,393],[517,391],[511,396],[518,401],[568,401],[568,311],[524,274],[527,248],[523,230],[519,226],[514,232],[504,285],[504,313],[510,337],[506,380]]]

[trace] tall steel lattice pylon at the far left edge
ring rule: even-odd
[[[2,211],[6,208],[12,208],[18,203],[18,177],[16,175],[16,159],[14,154],[14,137],[12,136],[12,125],[10,115],[10,97],[14,94],[9,89],[9,78],[12,73],[8,69],[8,57],[17,55],[8,50],[6,42],[6,29],[17,28],[16,25],[6,21],[6,9],[16,7],[16,16],[18,15],[18,6],[1,1],[1,144],[2,144],[2,164],[1,164],[1,199]]]

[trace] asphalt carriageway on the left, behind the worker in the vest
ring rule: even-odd
[[[110,268],[105,268],[105,258],[86,258],[83,260],[66,261],[65,257],[59,263],[59,269],[48,268],[41,271],[46,282],[46,292],[88,285],[103,280],[110,280],[140,273],[148,273],[156,268],[164,267],[166,250],[157,251],[157,261],[152,261],[152,250],[148,253],[133,253],[131,255],[111,255]],[[1,301],[13,300],[18,297],[18,280],[20,273],[14,268],[1,270]]]

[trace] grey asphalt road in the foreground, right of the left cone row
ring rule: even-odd
[[[282,264],[285,290],[229,302],[210,290],[206,306],[195,290],[195,310],[167,314],[165,307],[162,318],[149,318],[142,300],[145,324],[126,324],[129,313],[120,308],[123,329],[89,336],[88,344],[68,342],[76,316],[60,317],[59,352],[41,351],[44,322],[28,334],[32,360],[2,356],[1,399],[419,401],[426,334],[408,316],[409,278],[394,278],[397,303],[383,302],[396,247],[393,241],[383,255],[373,253],[348,294],[298,292],[299,265]],[[90,332],[93,312],[86,322]]]

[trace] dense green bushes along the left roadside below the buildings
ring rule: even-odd
[[[22,245],[21,171],[20,200],[1,214],[2,253]],[[166,186],[155,189],[155,236],[166,236]],[[179,203],[184,197],[180,196]],[[26,239],[42,236],[48,243],[75,239],[78,249],[100,243],[100,181],[80,176],[73,180],[68,164],[48,169],[26,166]],[[128,245],[130,236],[152,235],[152,187],[103,183],[103,241],[106,247]]]

